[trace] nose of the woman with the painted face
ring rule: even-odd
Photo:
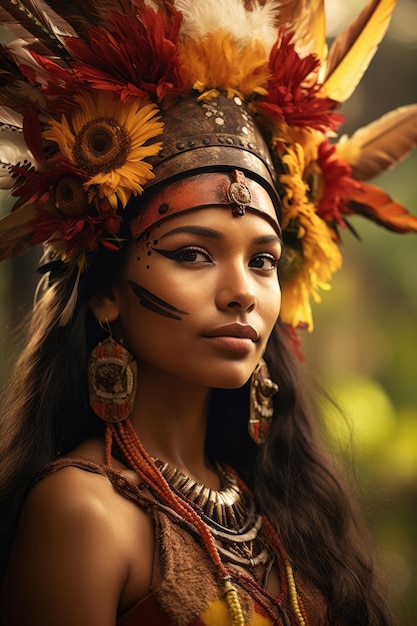
[[[256,307],[256,294],[248,269],[230,266],[222,272],[216,293],[217,307],[250,312]]]

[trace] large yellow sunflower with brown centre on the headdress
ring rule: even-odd
[[[143,185],[154,177],[145,159],[157,155],[162,146],[160,141],[150,142],[163,131],[158,108],[146,98],[125,103],[104,91],[75,100],[78,108],[70,117],[50,122],[44,136],[90,177],[84,185],[90,202],[98,194],[113,208],[118,202],[125,207],[131,195],[142,193]]]

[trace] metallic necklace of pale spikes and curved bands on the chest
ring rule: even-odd
[[[273,564],[272,551],[262,532],[262,517],[255,504],[237,484],[235,476],[219,465],[221,489],[216,491],[193,480],[176,467],[155,459],[171,490],[190,504],[212,534],[222,560],[249,569],[263,566],[266,586]]]

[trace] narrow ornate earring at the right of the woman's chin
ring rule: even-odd
[[[268,366],[261,359],[250,382],[249,434],[255,443],[264,443],[274,414],[272,397],[278,385],[269,378]]]

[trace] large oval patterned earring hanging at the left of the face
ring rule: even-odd
[[[106,318],[108,338],[96,345],[88,362],[90,405],[106,422],[121,422],[133,409],[136,395],[137,364],[130,352],[117,343]]]

